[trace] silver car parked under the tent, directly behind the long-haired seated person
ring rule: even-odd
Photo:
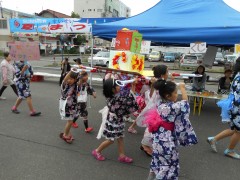
[[[203,56],[197,54],[186,54],[180,60],[180,67],[197,67],[203,62]]]

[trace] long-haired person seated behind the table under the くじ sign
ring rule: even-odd
[[[205,67],[203,65],[198,66],[197,70],[194,74],[202,75],[202,77],[194,77],[193,78],[193,91],[203,91],[205,89],[205,83],[207,80],[207,75],[205,73]]]

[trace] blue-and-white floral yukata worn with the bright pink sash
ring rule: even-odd
[[[150,172],[156,179],[175,180],[179,174],[178,146],[188,146],[197,143],[196,134],[189,121],[190,108],[187,101],[160,102],[157,112],[163,121],[174,123],[174,130],[164,127],[152,133],[153,154]]]

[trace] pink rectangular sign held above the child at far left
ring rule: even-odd
[[[40,50],[38,42],[9,42],[10,55],[12,60],[40,60]]]

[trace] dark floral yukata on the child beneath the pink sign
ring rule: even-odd
[[[25,73],[21,74],[21,71],[25,65],[28,65],[28,69]],[[32,66],[28,62],[17,62],[14,64],[15,68],[15,83],[18,89],[18,96],[21,99],[26,99],[31,96],[30,80],[33,75]]]

